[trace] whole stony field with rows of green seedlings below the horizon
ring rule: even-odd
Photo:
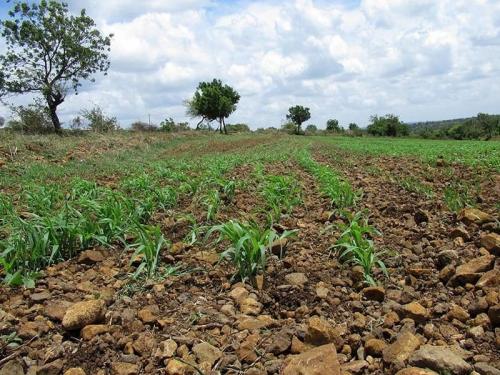
[[[499,169],[498,141],[6,133],[0,374],[494,374]]]

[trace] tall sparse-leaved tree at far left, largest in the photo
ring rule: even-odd
[[[83,9],[78,15],[56,0],[17,1],[2,21],[7,52],[0,56],[0,97],[38,94],[47,103],[57,133],[57,107],[82,80],[109,69],[112,35],[103,36]]]

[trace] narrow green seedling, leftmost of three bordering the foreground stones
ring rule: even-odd
[[[167,245],[167,241],[159,227],[138,224],[136,235],[136,242],[130,245],[130,248],[135,248],[130,263],[132,264],[138,259],[141,263],[135,270],[133,278],[136,279],[142,273],[146,274],[146,278],[152,278],[158,268],[160,252]]]

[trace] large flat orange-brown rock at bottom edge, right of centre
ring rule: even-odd
[[[280,375],[340,375],[337,351],[332,344],[319,346],[299,355],[288,357]]]

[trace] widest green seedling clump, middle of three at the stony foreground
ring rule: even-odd
[[[262,273],[266,267],[267,252],[275,241],[283,240],[296,231],[285,231],[278,235],[272,228],[262,229],[256,223],[240,223],[230,220],[227,223],[212,227],[208,233],[218,232],[218,242],[227,240],[230,246],[221,254],[221,258],[229,260],[236,267],[236,274],[245,282],[252,276]]]

